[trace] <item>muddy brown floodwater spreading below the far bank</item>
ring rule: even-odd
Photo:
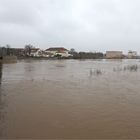
[[[0,64],[0,138],[140,138],[140,61]]]

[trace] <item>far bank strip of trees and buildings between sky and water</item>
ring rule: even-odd
[[[0,47],[0,62],[17,62],[21,59],[32,60],[86,60],[86,59],[140,59],[135,51],[129,51],[124,55],[122,51],[102,52],[76,52],[75,49],[67,50],[63,47],[49,48],[41,50],[32,45],[25,45],[24,48],[11,48],[10,45]]]

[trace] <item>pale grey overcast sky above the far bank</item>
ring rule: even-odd
[[[140,53],[140,0],[0,0],[0,45]]]

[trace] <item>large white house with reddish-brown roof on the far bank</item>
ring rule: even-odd
[[[60,56],[60,57],[69,57],[71,56],[69,54],[69,51],[63,47],[58,47],[58,48],[49,48],[45,51],[49,57],[55,57],[55,56]]]

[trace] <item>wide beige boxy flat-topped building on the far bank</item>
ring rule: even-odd
[[[122,51],[107,51],[106,58],[107,59],[122,59],[123,52]]]

